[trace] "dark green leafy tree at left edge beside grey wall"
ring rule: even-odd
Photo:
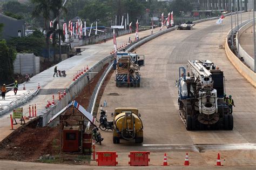
[[[13,81],[14,60],[16,51],[12,47],[6,45],[5,40],[0,40],[0,83],[10,83]]]

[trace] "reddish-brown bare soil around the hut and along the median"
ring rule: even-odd
[[[97,73],[95,78],[90,81],[90,86],[84,87],[83,91],[75,98],[76,101],[84,108],[89,105],[89,100],[93,89],[98,83],[104,70],[109,64],[104,65],[103,69]],[[107,82],[110,80],[114,70],[108,74],[102,88],[100,89],[95,114],[97,113],[99,101]],[[90,91],[89,91],[90,90]],[[69,113],[68,111],[67,113]],[[87,165],[90,163],[90,155],[81,154],[64,154],[60,153],[60,126],[57,127],[31,127],[25,126],[22,131],[15,136],[9,136],[9,142],[0,148],[0,159],[16,160],[16,161],[39,161],[55,164],[79,164]],[[40,157],[47,155],[50,159],[41,159]]]

